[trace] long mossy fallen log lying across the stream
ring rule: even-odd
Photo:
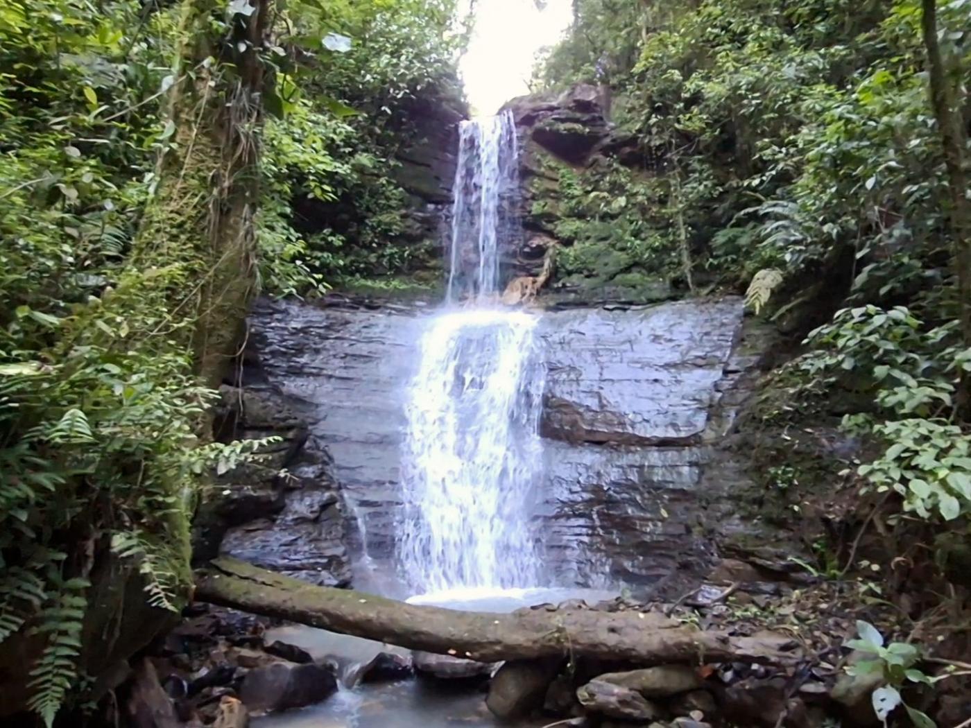
[[[231,558],[216,559],[196,574],[195,599],[482,662],[572,655],[647,666],[783,663],[797,657],[791,650],[794,643],[782,636],[734,637],[705,632],[654,612],[457,612],[317,586]]]

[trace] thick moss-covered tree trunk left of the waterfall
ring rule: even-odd
[[[158,188],[132,251],[136,267],[183,266],[167,309],[188,320],[196,371],[217,387],[242,339],[255,283],[262,47],[270,0],[251,0],[226,37],[213,38],[214,0],[184,0],[184,46],[169,102],[174,144],[156,166]],[[218,59],[218,60],[216,60]]]

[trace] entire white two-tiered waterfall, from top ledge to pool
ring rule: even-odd
[[[462,123],[447,307],[422,322],[405,413],[399,559],[417,590],[540,581],[537,317],[495,303],[499,254],[519,236],[517,151],[508,112]]]

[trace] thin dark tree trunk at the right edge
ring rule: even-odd
[[[954,275],[957,279],[957,295],[961,333],[964,346],[971,347],[971,201],[967,198],[968,161],[967,132],[957,100],[957,80],[960,73],[954,69],[949,74],[937,41],[937,2],[922,0],[923,44],[927,50],[927,71],[930,78],[930,102],[937,120],[937,128],[944,148],[944,161],[948,169],[950,196],[949,217],[954,242]],[[956,61],[955,61],[956,62]],[[950,76],[950,78],[949,78]],[[959,392],[958,403],[967,414],[968,381],[965,377]]]

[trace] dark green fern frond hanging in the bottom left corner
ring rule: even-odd
[[[71,579],[61,586],[56,601],[41,612],[41,622],[34,630],[47,635],[47,645],[30,671],[28,687],[33,691],[27,707],[40,715],[51,728],[57,711],[78,677],[77,660],[81,655],[81,631],[87,600],[84,579]]]

